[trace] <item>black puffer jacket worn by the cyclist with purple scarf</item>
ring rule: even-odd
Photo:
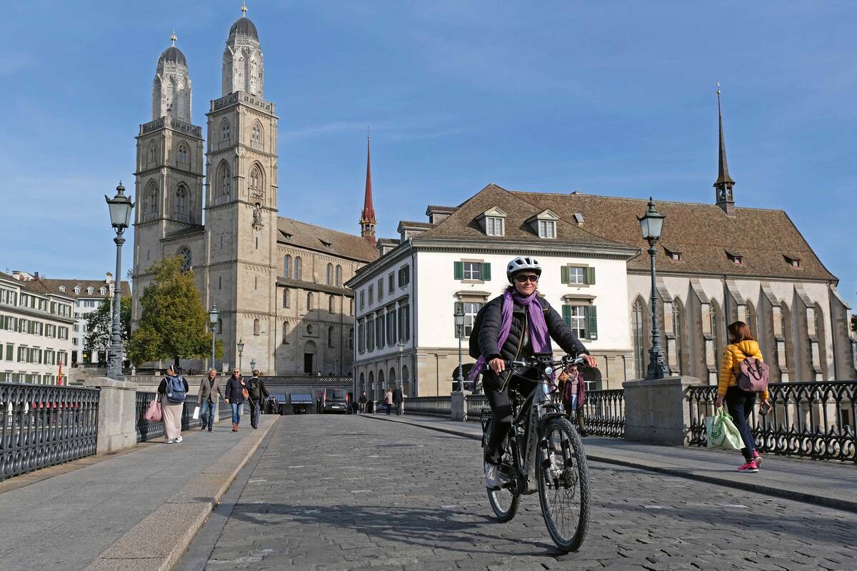
[[[542,298],[537,299],[544,312],[544,322],[548,325],[548,335],[559,343],[560,348],[567,354],[589,354],[578,336],[574,335],[548,301]],[[497,341],[500,339],[500,329],[503,325],[502,313],[502,295],[488,301],[488,306],[482,315],[482,326],[479,330],[479,349],[485,355],[485,360],[492,360],[495,357],[513,360],[516,357],[532,355],[530,336],[529,333],[525,333],[530,327],[530,324],[527,323],[527,313],[524,311],[524,307],[517,303],[512,306],[512,329],[509,330],[509,336],[498,353]],[[526,338],[522,339],[524,335]]]

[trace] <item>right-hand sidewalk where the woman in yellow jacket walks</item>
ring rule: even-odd
[[[404,422],[464,437],[482,437],[482,427],[477,422],[453,422],[407,414],[400,417],[385,414],[364,416],[366,419]],[[854,463],[765,455],[763,469],[755,474],[745,474],[735,470],[743,463],[737,452],[656,446],[609,437],[585,437],[584,447],[590,460],[857,512],[857,466]]]

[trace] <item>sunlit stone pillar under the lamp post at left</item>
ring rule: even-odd
[[[111,378],[87,379],[99,387],[99,432],[96,454],[111,454],[137,443],[137,387]]]

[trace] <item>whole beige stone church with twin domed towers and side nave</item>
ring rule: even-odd
[[[261,43],[246,14],[226,40],[205,137],[191,122],[188,64],[172,40],[153,80],[152,121],[136,137],[132,328],[148,269],[178,255],[203,304],[219,310],[216,366],[237,365],[242,341],[244,370],[254,360],[268,375],[350,374],[354,294],[343,284],[378,255],[374,211],[365,237],[278,216],[279,118],[263,97]],[[367,190],[371,201],[369,178]]]

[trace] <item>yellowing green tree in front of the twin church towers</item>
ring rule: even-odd
[[[140,325],[131,334],[128,357],[139,365],[171,359],[204,358],[210,354],[212,334],[208,314],[196,290],[193,271],[182,271],[179,256],[165,258],[148,269],[155,275],[140,300]],[[215,356],[223,357],[218,341]]]

